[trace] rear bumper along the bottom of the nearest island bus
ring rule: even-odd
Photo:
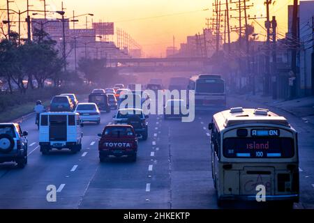
[[[258,197],[261,198],[262,197]],[[220,200],[256,201],[256,195],[223,195]],[[299,202],[299,194],[266,195],[265,201],[293,201]]]

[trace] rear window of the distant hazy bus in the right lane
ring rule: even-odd
[[[224,93],[225,83],[222,79],[200,79],[196,84],[197,93]]]

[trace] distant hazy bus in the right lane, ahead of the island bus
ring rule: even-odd
[[[225,107],[225,80],[220,75],[195,75],[190,77],[188,90],[195,90],[195,110]]]

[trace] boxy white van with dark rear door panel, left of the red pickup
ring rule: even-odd
[[[44,112],[40,114],[39,145],[43,155],[52,148],[68,148],[72,153],[82,149],[83,124],[76,112]]]

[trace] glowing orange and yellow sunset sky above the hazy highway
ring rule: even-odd
[[[73,10],[76,15],[94,13],[94,22],[115,22],[115,28],[119,27],[130,33],[142,45],[146,56],[165,56],[165,48],[172,46],[172,36],[175,37],[176,47],[179,47],[180,43],[186,42],[186,36],[202,32],[206,27],[205,18],[212,15],[213,2],[214,0],[63,0],[63,5],[66,8],[66,17],[72,16]],[[33,5],[31,9],[43,10],[43,1],[29,0],[29,3]],[[47,10],[61,10],[61,0],[46,0],[46,3],[49,5]],[[248,4],[251,3],[254,6],[248,10],[249,15],[266,15],[264,0],[251,0]],[[284,34],[287,31],[287,5],[292,3],[293,0],[277,0],[270,7],[270,15],[276,15],[279,33]],[[10,3],[10,7],[15,10],[25,10],[26,6],[27,0]],[[6,0],[0,0],[0,8],[6,8]],[[209,10],[204,10],[206,8]],[[0,18],[6,20],[6,14],[3,13],[5,12],[0,11]],[[17,20],[17,15],[13,16],[13,20]],[[237,20],[230,22],[232,25],[237,24]],[[258,22],[264,24],[264,20]],[[83,28],[84,25],[85,17],[80,17],[76,27]],[[254,26],[256,33],[264,33],[260,26]],[[22,31],[26,33],[25,23]],[[232,37],[235,38],[235,34]],[[260,40],[263,39],[260,36]]]

